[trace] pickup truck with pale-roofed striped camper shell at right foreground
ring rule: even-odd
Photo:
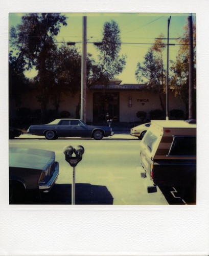
[[[152,120],[140,142],[140,160],[154,187],[192,189],[196,194],[196,123]],[[148,187],[148,193],[156,191]]]

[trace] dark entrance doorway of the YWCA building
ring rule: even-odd
[[[119,122],[119,93],[94,93],[93,121],[106,122],[108,119]]]

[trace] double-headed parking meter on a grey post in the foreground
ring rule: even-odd
[[[72,204],[75,204],[76,165],[82,160],[84,147],[81,145],[76,148],[73,148],[73,146],[66,146],[63,153],[65,155],[65,160],[73,167]],[[74,153],[76,156],[72,156]]]

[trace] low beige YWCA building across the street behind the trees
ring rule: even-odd
[[[159,96],[147,91],[142,84],[121,84],[120,80],[112,80],[107,87],[97,84],[87,90],[86,96],[86,122],[103,122],[113,119],[114,122],[138,121],[136,113],[144,111],[149,118],[151,110],[161,109]],[[40,109],[40,103],[36,100],[35,89],[27,94],[22,94],[21,108],[29,108],[31,111]],[[162,94],[166,107],[166,95]],[[79,103],[80,93],[74,96],[62,96],[59,112],[68,111],[71,118],[76,118],[76,106]],[[52,102],[48,104],[48,110],[53,110]],[[185,110],[185,104],[169,92],[169,111],[172,109]],[[10,102],[10,116],[14,117],[16,107]]]

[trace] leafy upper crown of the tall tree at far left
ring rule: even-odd
[[[39,63],[39,58],[44,58],[43,51],[55,48],[54,36],[61,25],[67,25],[66,17],[59,13],[29,13],[22,16],[21,22],[16,29],[11,28],[11,41],[31,69]]]

